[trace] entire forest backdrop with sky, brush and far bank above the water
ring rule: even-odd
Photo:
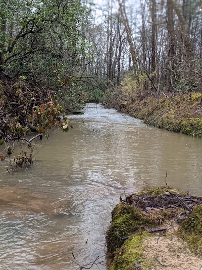
[[[61,113],[89,101],[201,136],[200,1],[0,6],[0,145],[30,131],[48,136],[52,126],[67,131]]]

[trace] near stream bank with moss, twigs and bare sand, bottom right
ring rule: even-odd
[[[201,203],[168,186],[120,198],[106,234],[110,270],[201,269]]]

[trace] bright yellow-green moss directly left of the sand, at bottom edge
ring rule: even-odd
[[[142,269],[149,269],[152,262],[146,261],[144,255],[144,240],[148,237],[153,236],[144,232],[125,241],[121,249],[116,252],[110,270],[135,270],[135,262],[139,263]]]

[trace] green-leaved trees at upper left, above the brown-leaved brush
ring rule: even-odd
[[[0,10],[0,72],[54,89],[64,105],[69,91],[77,91],[73,86],[83,72],[80,58],[89,55],[84,29],[91,3],[7,0],[0,3]],[[80,100],[73,99],[73,106]]]

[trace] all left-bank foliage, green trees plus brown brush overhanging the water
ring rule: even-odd
[[[90,57],[85,36],[90,13],[91,3],[84,0],[0,2],[0,146],[27,141],[30,131],[48,137],[52,126],[68,131],[60,115],[87,100],[77,78],[81,58]],[[27,143],[30,156],[22,151],[17,166],[32,162]],[[2,151],[2,161],[10,158],[10,147]]]

